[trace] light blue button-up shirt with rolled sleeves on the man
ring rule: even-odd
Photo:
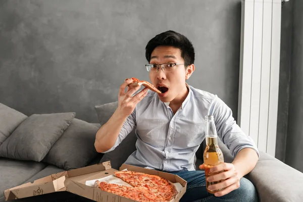
[[[193,171],[195,152],[205,139],[205,116],[213,115],[218,137],[233,157],[243,148],[259,151],[254,141],[243,133],[232,117],[231,109],[217,96],[187,85],[189,93],[173,114],[169,103],[157,93],[148,94],[124,122],[114,146],[136,127],[136,148],[125,164],[164,171]]]

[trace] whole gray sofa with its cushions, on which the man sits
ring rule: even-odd
[[[27,117],[0,104],[0,202],[5,201],[5,189],[63,170],[109,160],[113,168],[119,169],[135,150],[135,130],[115,150],[105,155],[97,154],[93,146],[96,130],[107,122],[116,108],[117,102],[95,106],[99,123],[90,124],[76,119],[75,113]],[[46,125],[48,127],[45,128]],[[41,128],[44,131],[41,132]],[[57,130],[52,130],[54,128]],[[20,136],[26,138],[18,139]],[[48,144],[44,141],[47,136],[51,136],[47,139]],[[40,148],[41,145],[44,146]],[[232,162],[233,157],[220,140],[219,146],[223,150],[225,161]],[[203,163],[204,149],[205,142],[196,152],[196,168]],[[257,166],[245,177],[257,187],[260,201],[303,201],[303,173],[270,155],[261,152]],[[52,197],[46,197],[46,194],[40,198],[35,196],[17,201],[60,201],[60,197],[72,197],[62,194],[64,193]],[[89,201],[80,197],[72,200]]]

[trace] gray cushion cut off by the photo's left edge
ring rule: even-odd
[[[26,118],[26,115],[0,103],[0,144],[2,144]]]

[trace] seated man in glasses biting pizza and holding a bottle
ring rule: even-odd
[[[146,65],[151,83],[161,94],[140,87],[120,87],[118,108],[96,133],[95,148],[99,153],[113,149],[136,127],[137,150],[125,164],[173,172],[187,181],[181,201],[257,201],[257,191],[242,178],[257,164],[259,151],[232,117],[231,110],[216,95],[195,89],[186,83],[195,70],[194,48],[182,34],[167,31],[146,45]],[[235,157],[230,163],[211,170],[220,174],[208,181],[225,180],[211,185],[215,194],[206,190],[204,165],[194,169],[194,155],[205,139],[205,116],[213,115],[218,136]]]

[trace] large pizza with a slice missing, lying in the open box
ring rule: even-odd
[[[131,186],[95,181],[94,187],[137,201],[170,201],[178,192],[169,180],[134,171],[114,173]]]

